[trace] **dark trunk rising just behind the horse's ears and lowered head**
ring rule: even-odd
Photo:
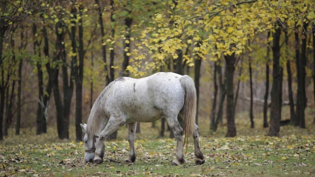
[[[82,141],[82,129],[80,124],[82,123],[82,85],[83,85],[83,67],[84,67],[84,49],[83,49],[83,22],[82,22],[82,11],[83,8],[80,5],[79,7],[79,63],[75,61],[77,65],[76,69],[76,79],[75,79],[75,88],[76,88],[76,104],[75,104],[75,132],[76,140]]]

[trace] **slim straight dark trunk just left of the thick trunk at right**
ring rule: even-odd
[[[270,36],[270,31],[268,31],[267,39]],[[264,96],[264,128],[268,127],[268,95],[269,95],[269,54],[270,54],[270,42],[267,45],[267,56],[266,56],[266,89],[265,89],[265,96]]]

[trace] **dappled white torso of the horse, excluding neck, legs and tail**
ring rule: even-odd
[[[174,116],[184,105],[181,77],[159,72],[141,79],[120,78],[108,95],[107,108],[120,109],[126,114],[126,122],[150,122],[166,115]]]

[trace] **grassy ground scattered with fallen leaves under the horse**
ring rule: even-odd
[[[201,118],[200,145],[206,158],[206,163],[201,166],[194,165],[192,142],[185,155],[186,163],[170,166],[176,142],[166,137],[158,138],[158,128],[151,128],[150,123],[141,124],[142,132],[137,134],[135,163],[125,163],[128,142],[124,127],[118,132],[117,141],[106,142],[105,160],[100,165],[85,163],[83,145],[58,140],[54,127],[50,127],[47,134],[38,136],[33,135],[33,129],[23,129],[22,135],[8,136],[0,143],[0,177],[315,176],[312,114],[307,111],[307,129],[283,126],[281,137],[264,136],[268,128],[261,127],[261,118],[255,120],[256,128],[249,128],[249,121],[239,114],[236,118],[238,136],[224,138],[225,128],[209,133],[209,121]],[[14,130],[10,131],[13,134]],[[73,138],[74,127],[70,133]]]

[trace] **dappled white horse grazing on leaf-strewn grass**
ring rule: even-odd
[[[184,133],[177,120],[178,114],[184,119]],[[171,164],[185,162],[183,147],[191,136],[194,139],[195,163],[203,164],[205,160],[200,150],[195,116],[196,89],[188,75],[159,72],[142,79],[118,78],[100,93],[88,123],[81,124],[85,161],[101,163],[104,141],[119,127],[127,124],[129,157],[126,162],[134,162],[136,122],[152,122],[164,117],[177,140],[176,158]]]

